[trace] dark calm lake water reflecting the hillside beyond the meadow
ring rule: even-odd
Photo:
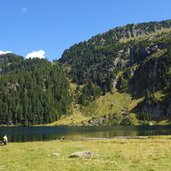
[[[60,139],[114,138],[116,136],[171,135],[171,126],[112,126],[112,127],[0,127],[0,138],[8,135],[10,142]]]

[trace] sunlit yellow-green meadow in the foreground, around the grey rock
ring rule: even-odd
[[[76,151],[95,156],[69,158]],[[169,171],[171,136],[9,143],[0,146],[0,156],[0,171]]]

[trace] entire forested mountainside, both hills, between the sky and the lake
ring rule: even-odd
[[[1,125],[170,123],[171,20],[117,27],[53,63],[1,55],[0,82]]]

